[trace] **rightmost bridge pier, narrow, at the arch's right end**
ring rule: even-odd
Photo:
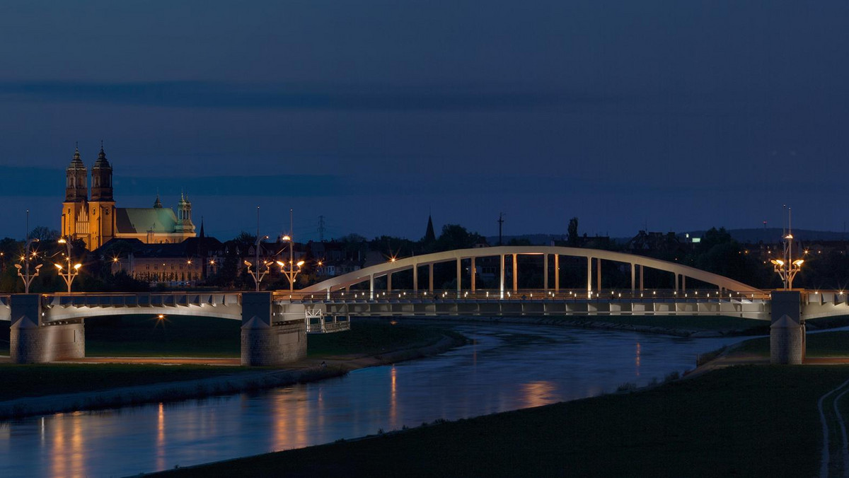
[[[805,327],[799,291],[773,290],[770,314],[769,362],[800,364],[805,354]]]

